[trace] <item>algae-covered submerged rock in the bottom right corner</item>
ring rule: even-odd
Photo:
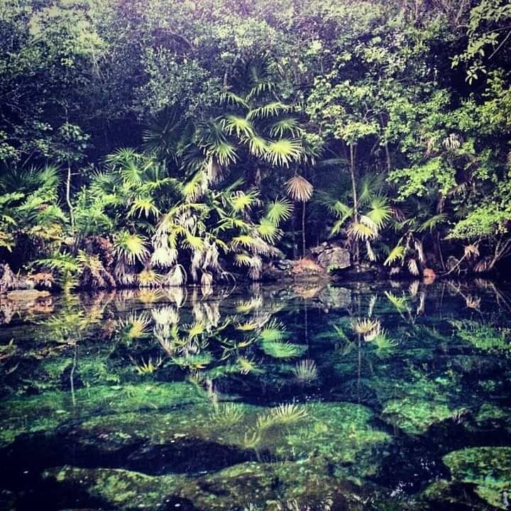
[[[490,505],[506,510],[511,493],[511,447],[470,447],[443,458],[451,478],[476,485],[476,493]]]

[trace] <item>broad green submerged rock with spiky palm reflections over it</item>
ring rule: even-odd
[[[261,457],[299,460],[319,455],[334,463],[344,476],[359,478],[375,472],[374,451],[390,441],[387,433],[370,425],[372,419],[368,408],[351,403],[270,409],[202,403],[171,412],[93,417],[75,427],[72,436],[77,445],[104,451],[142,443],[140,452],[131,454],[131,461],[150,459],[149,453],[157,446],[160,453],[172,453],[165,469],[170,472],[212,468],[213,460],[201,466],[193,459],[204,446],[199,458],[205,463],[209,452],[219,467],[227,466],[229,457],[231,463],[239,463]],[[224,446],[223,450],[218,446]]]

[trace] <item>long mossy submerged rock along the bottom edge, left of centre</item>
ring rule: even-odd
[[[353,483],[329,476],[316,460],[300,462],[248,462],[211,475],[147,476],[111,468],[64,466],[45,472],[46,479],[85,490],[92,498],[121,510],[165,508],[189,502],[209,511],[258,509],[277,511],[282,502],[298,509],[326,509],[325,502],[353,511],[364,509],[364,492]],[[296,509],[296,508],[292,508]]]

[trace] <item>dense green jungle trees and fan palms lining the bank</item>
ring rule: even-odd
[[[4,0],[0,260],[62,285],[511,254],[505,0]],[[504,264],[502,263],[504,261]]]

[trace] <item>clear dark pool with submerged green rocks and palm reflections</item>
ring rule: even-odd
[[[0,302],[0,508],[511,509],[511,288]]]

